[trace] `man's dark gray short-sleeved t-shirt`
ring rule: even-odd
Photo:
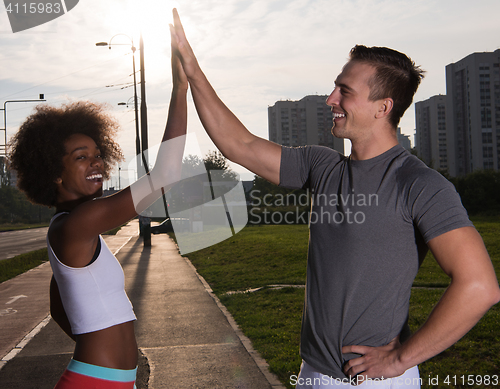
[[[282,147],[280,186],[312,195],[301,356],[346,378],[348,345],[407,329],[426,243],[472,226],[454,186],[401,146],[363,161],[321,146]]]

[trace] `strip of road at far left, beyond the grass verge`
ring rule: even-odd
[[[48,227],[0,232],[0,260],[47,247]]]

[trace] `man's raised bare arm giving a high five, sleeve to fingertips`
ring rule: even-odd
[[[281,146],[250,133],[215,93],[186,39],[177,10],[170,26],[200,120],[208,135],[229,160],[279,184]]]

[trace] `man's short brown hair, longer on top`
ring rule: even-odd
[[[411,105],[425,71],[407,55],[387,47],[356,45],[349,54],[350,61],[373,66],[376,71],[369,82],[372,101],[391,98],[394,106],[389,122],[396,128]]]

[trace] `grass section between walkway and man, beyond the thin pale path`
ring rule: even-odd
[[[188,257],[220,295],[273,284],[303,285],[307,243],[304,225],[246,227]]]

